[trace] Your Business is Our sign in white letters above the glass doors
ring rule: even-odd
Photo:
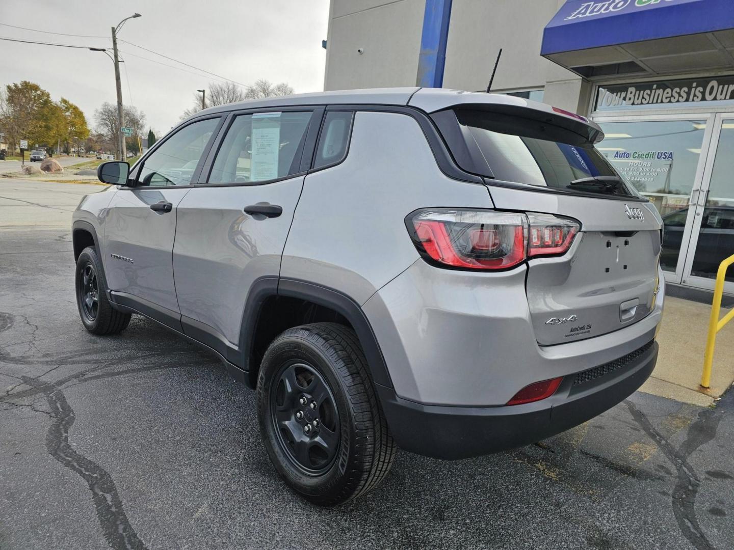
[[[691,78],[599,87],[596,110],[661,106],[692,106],[696,103],[731,101],[734,103],[734,76]]]

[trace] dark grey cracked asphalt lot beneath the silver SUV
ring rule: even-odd
[[[280,482],[255,395],[144,318],[79,321],[68,220],[101,187],[0,180],[0,549],[731,549],[734,393],[632,395],[460,462],[399,454],[333,509]]]

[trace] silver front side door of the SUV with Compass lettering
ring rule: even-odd
[[[117,303],[180,330],[172,250],[177,207],[191,190],[222,117],[196,120],[167,136],[136,166],[106,213],[105,275]]]

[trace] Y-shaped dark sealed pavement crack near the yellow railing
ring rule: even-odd
[[[688,428],[686,441],[683,441],[680,450],[677,450],[662,433],[655,429],[650,419],[634,403],[625,400],[625,405],[639,427],[655,441],[666,458],[675,466],[677,482],[672,491],[672,508],[680,532],[698,550],[714,549],[715,547],[706,537],[696,517],[696,496],[701,480],[688,463],[688,457],[716,436],[716,429],[719,427],[723,414],[715,414],[716,411],[709,408],[701,411],[697,421]]]

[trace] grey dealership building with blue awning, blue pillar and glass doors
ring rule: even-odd
[[[664,217],[667,281],[713,289],[734,254],[733,0],[331,0],[329,17],[324,89],[415,86],[438,32],[443,87],[486,92],[496,64],[493,93],[597,122]]]

